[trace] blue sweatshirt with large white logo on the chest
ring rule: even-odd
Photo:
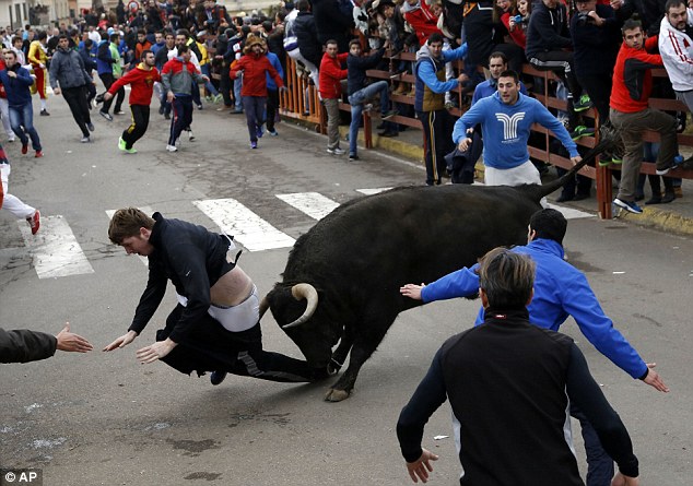
[[[498,93],[477,102],[462,115],[462,118],[455,122],[455,130],[453,130],[455,144],[467,137],[468,128],[481,123],[484,165],[497,169],[509,169],[529,161],[527,141],[531,126],[539,123],[553,132],[571,157],[576,157],[577,145],[563,123],[537,99],[521,93],[518,96],[514,105],[503,103]]]

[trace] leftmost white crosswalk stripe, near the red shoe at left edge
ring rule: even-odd
[[[70,225],[62,216],[42,217],[40,229],[36,235],[32,235],[25,221],[19,222],[19,225],[39,278],[94,273]]]

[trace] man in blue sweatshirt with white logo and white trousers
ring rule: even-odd
[[[457,120],[453,131],[453,141],[460,152],[465,152],[472,141],[467,133],[481,123],[488,186],[541,183],[539,170],[529,161],[527,150],[533,123],[553,132],[571,154],[573,164],[583,159],[563,123],[537,99],[520,93],[519,78],[515,71],[501,73],[496,84],[498,92],[475,103]],[[545,198],[542,199],[542,205],[545,206]]]

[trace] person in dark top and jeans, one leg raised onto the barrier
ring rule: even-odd
[[[357,161],[357,141],[359,125],[361,123],[361,114],[371,109],[366,103],[376,96],[380,96],[380,119],[389,120],[397,110],[390,109],[389,84],[387,81],[376,81],[367,84],[366,70],[373,69],[380,62],[385,49],[385,45],[372,54],[371,56],[361,56],[361,42],[353,39],[349,43],[349,57],[346,58],[349,104],[351,105],[351,125],[349,126],[349,159]]]

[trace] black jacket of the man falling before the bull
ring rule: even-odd
[[[150,244],[149,280],[134,311],[129,331],[142,332],[166,294],[168,280],[178,295],[188,299],[180,319],[168,337],[179,343],[210,307],[210,288],[235,263],[226,261],[230,240],[223,235],[180,220],[154,213]]]

